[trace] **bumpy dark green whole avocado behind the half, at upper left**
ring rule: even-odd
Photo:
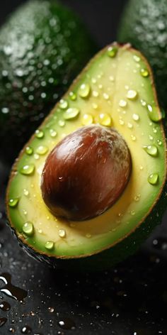
[[[30,0],[0,29],[0,155],[13,161],[96,47],[54,0]]]

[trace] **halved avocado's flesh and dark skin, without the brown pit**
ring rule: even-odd
[[[93,123],[115,128],[125,139],[129,182],[103,214],[59,219],[42,199],[45,160],[62,138]],[[76,270],[107,268],[134,253],[161,223],[165,182],[166,140],[151,68],[129,44],[114,43],[88,63],[18,156],[6,197],[9,224],[39,260]]]

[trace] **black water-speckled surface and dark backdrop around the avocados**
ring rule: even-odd
[[[5,1],[1,20],[18,2]],[[123,1],[117,1],[117,7],[114,0],[63,2],[82,14],[101,46],[115,38]],[[58,273],[29,258],[5,224],[8,170],[0,163],[0,275],[11,274],[13,285],[28,291],[28,297],[23,303],[6,297],[0,280],[0,325],[4,323],[0,334],[12,334],[12,329],[13,334],[22,334],[27,325],[32,329],[29,334],[42,335],[166,335],[166,217],[141,251],[113,270],[92,275]],[[9,311],[1,310],[4,301],[11,305]],[[75,329],[62,329],[62,320],[66,328]]]

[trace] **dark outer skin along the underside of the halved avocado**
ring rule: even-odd
[[[146,217],[142,224],[137,229],[135,229],[134,232],[132,232],[132,234],[125,237],[112,248],[86,258],[59,259],[38,253],[33,250],[33,248],[28,246],[28,244],[23,243],[9,222],[8,226],[10,226],[13,235],[18,240],[19,246],[21,246],[21,248],[23,248],[23,250],[28,253],[30,257],[33,257],[35,260],[38,260],[42,263],[46,263],[52,268],[73,273],[108,270],[117,263],[120,263],[122,260],[125,260],[127,257],[132,256],[135,252],[137,252],[142,243],[144,243],[146,238],[149,237],[151,231],[153,231],[157,225],[161,224],[163,214],[166,211],[166,197],[167,184],[164,186],[161,197],[156,203],[154,209],[152,209],[151,213]]]

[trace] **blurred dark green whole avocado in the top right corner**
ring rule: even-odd
[[[167,109],[166,0],[129,0],[122,13],[117,40],[131,43],[145,55],[154,72],[159,104]]]

